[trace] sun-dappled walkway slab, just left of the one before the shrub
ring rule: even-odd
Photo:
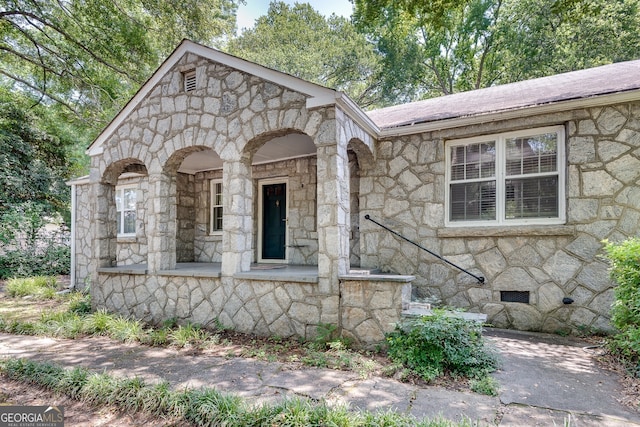
[[[332,403],[349,404],[353,409],[366,411],[394,410],[407,413],[417,388],[395,380],[370,378],[349,381],[330,397]]]

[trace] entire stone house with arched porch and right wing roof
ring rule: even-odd
[[[365,113],[184,41],[70,182],[73,283],[148,322],[332,324],[362,345],[424,299],[607,330],[602,241],[640,230],[638,76],[624,62]]]

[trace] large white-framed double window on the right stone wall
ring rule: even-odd
[[[447,225],[564,222],[564,129],[447,144]]]

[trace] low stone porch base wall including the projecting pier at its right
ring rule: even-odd
[[[342,300],[318,295],[317,283],[172,275],[107,274],[93,289],[97,307],[161,324],[169,318],[262,336],[316,335],[321,323],[342,326],[360,346],[384,340],[402,312],[401,282],[343,280]],[[334,306],[330,306],[334,305]],[[339,313],[338,316],[327,313]]]

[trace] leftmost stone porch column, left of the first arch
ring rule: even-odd
[[[114,187],[96,182],[91,185],[95,203],[95,240],[93,258],[98,267],[114,267],[116,264],[116,202]]]

